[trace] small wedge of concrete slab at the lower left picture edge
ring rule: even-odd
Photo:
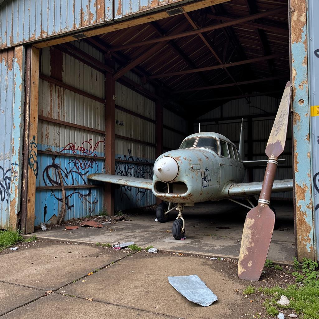
[[[2,300],[0,302],[0,315],[35,300],[44,294],[43,290],[0,282],[0,300]]]

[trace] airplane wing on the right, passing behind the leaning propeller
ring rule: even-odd
[[[229,197],[259,195],[263,182],[241,183],[230,185],[228,189]],[[274,181],[272,193],[286,192],[293,190],[293,180]]]

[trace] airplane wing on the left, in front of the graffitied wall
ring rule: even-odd
[[[122,175],[110,175],[110,174],[90,174],[87,176],[88,179],[95,181],[112,183],[122,186],[130,186],[143,189],[152,189],[152,180],[145,178],[137,178],[131,176],[122,176]]]

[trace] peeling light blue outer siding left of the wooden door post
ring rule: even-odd
[[[20,210],[24,48],[0,52],[0,229],[16,228]]]

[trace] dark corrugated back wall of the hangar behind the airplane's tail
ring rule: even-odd
[[[251,155],[251,159],[267,159],[265,155],[265,148],[279,103],[280,100],[268,96],[252,97],[250,98],[249,104],[245,99],[234,100],[227,102],[224,105],[219,106],[212,111],[200,116],[197,121],[202,121],[200,124],[202,132],[211,131],[220,133],[228,137],[238,146],[242,117],[244,119],[245,129],[245,159],[249,159],[249,153]],[[247,116],[251,118],[251,134],[249,134],[249,136]],[[232,119],[234,117],[238,118]],[[212,121],[207,122],[207,120],[210,119]],[[214,122],[214,119],[218,120],[218,123]],[[198,123],[194,125],[194,132],[198,132]],[[280,158],[286,159],[286,163],[284,165],[278,166],[276,179],[293,178],[290,121],[288,123],[285,150]],[[264,174],[264,167],[252,169],[254,182],[263,181]],[[244,182],[248,182],[247,171]],[[293,192],[277,193],[273,194],[272,197],[293,198]]]

